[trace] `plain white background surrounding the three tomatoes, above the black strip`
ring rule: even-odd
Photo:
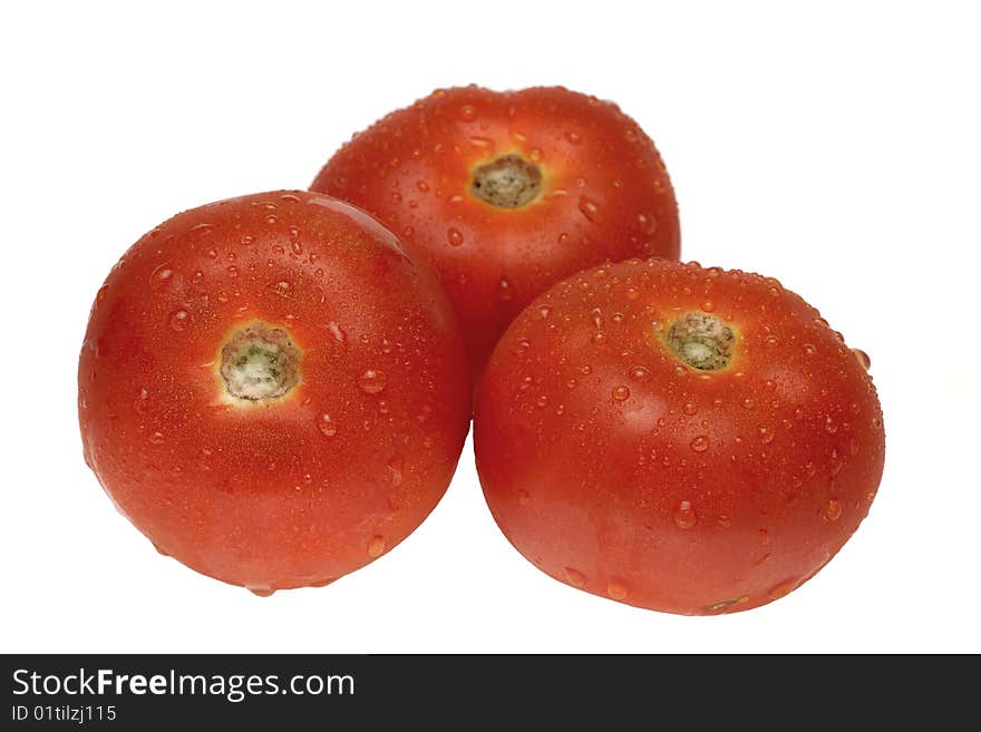
[[[803,4],[4,3],[0,651],[981,651],[981,23]],[[495,527],[469,442],[400,547],[269,599],[158,556],[99,489],[75,378],[118,255],[184,208],[305,187],[468,82],[619,103],[668,164],[683,256],[777,276],[872,355],[882,489],[799,591],[689,618],[554,582]]]

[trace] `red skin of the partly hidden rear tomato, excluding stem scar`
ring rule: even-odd
[[[509,153],[540,165],[543,195],[516,209],[473,197],[473,168]],[[312,189],[375,214],[439,272],[475,373],[559,280],[680,252],[674,192],[651,139],[616,105],[561,87],[437,90],[356,135]]]

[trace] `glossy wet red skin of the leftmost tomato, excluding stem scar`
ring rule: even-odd
[[[291,333],[302,381],[241,408],[216,367],[251,321]],[[369,369],[377,393],[359,388]],[[470,409],[431,271],[367,214],[305,192],[202,206],[140,238],[99,290],[78,378],[86,459],[123,514],[161,552],[263,594],[326,584],[408,536],[449,484]]]

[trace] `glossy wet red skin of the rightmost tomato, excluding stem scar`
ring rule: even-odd
[[[725,371],[688,367],[652,325],[689,311],[737,329]],[[775,280],[653,260],[583,272],[521,314],[474,440],[487,504],[535,566],[681,614],[812,577],[865,517],[884,457],[872,379],[817,310]]]

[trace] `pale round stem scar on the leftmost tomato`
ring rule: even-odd
[[[240,329],[222,349],[221,374],[236,399],[276,399],[300,382],[302,352],[282,328],[252,323]]]

